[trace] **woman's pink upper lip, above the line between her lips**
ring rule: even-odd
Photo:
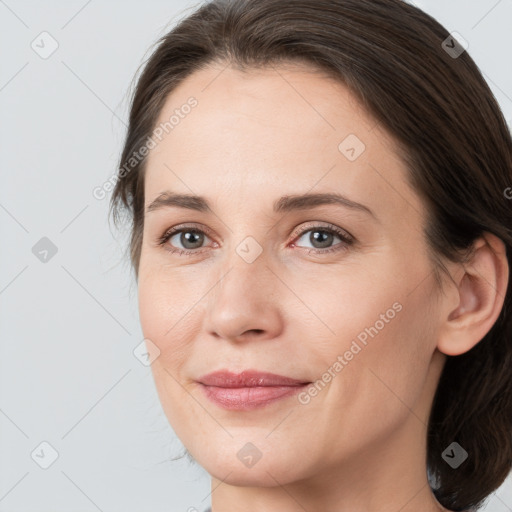
[[[198,382],[206,386],[218,386],[222,388],[248,388],[255,386],[300,386],[310,382],[292,379],[275,373],[259,372],[257,370],[244,370],[241,373],[233,373],[228,370],[220,370],[203,375]]]

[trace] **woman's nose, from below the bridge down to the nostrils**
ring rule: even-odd
[[[249,263],[234,252],[225,263],[208,298],[208,334],[232,342],[279,336],[284,317],[279,288],[283,284],[263,253]]]

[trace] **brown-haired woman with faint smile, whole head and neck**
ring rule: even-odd
[[[474,510],[505,480],[512,141],[433,18],[200,6],[138,79],[118,178],[156,387],[213,512]]]

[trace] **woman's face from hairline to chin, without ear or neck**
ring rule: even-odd
[[[140,320],[191,455],[227,482],[285,484],[424,428],[437,311],[425,211],[343,85],[300,66],[222,69],[182,82],[157,123],[175,115],[147,162]],[[310,384],[201,383],[247,370]]]

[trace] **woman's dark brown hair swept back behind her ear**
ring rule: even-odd
[[[428,207],[425,231],[438,283],[443,258],[461,262],[484,232],[503,240],[509,268],[512,140],[474,61],[435,19],[400,0],[213,0],[158,41],[133,94],[114,221],[131,220],[138,279],[144,164],[125,163],[155,128],[173,89],[212,63],[237,69],[302,62],[347,86],[394,136],[408,179]],[[443,43],[448,41],[448,43]],[[450,53],[450,48],[457,53]],[[512,294],[487,335],[448,356],[428,426],[427,465],[438,501],[478,507],[512,468]],[[457,469],[442,452],[469,454]]]

